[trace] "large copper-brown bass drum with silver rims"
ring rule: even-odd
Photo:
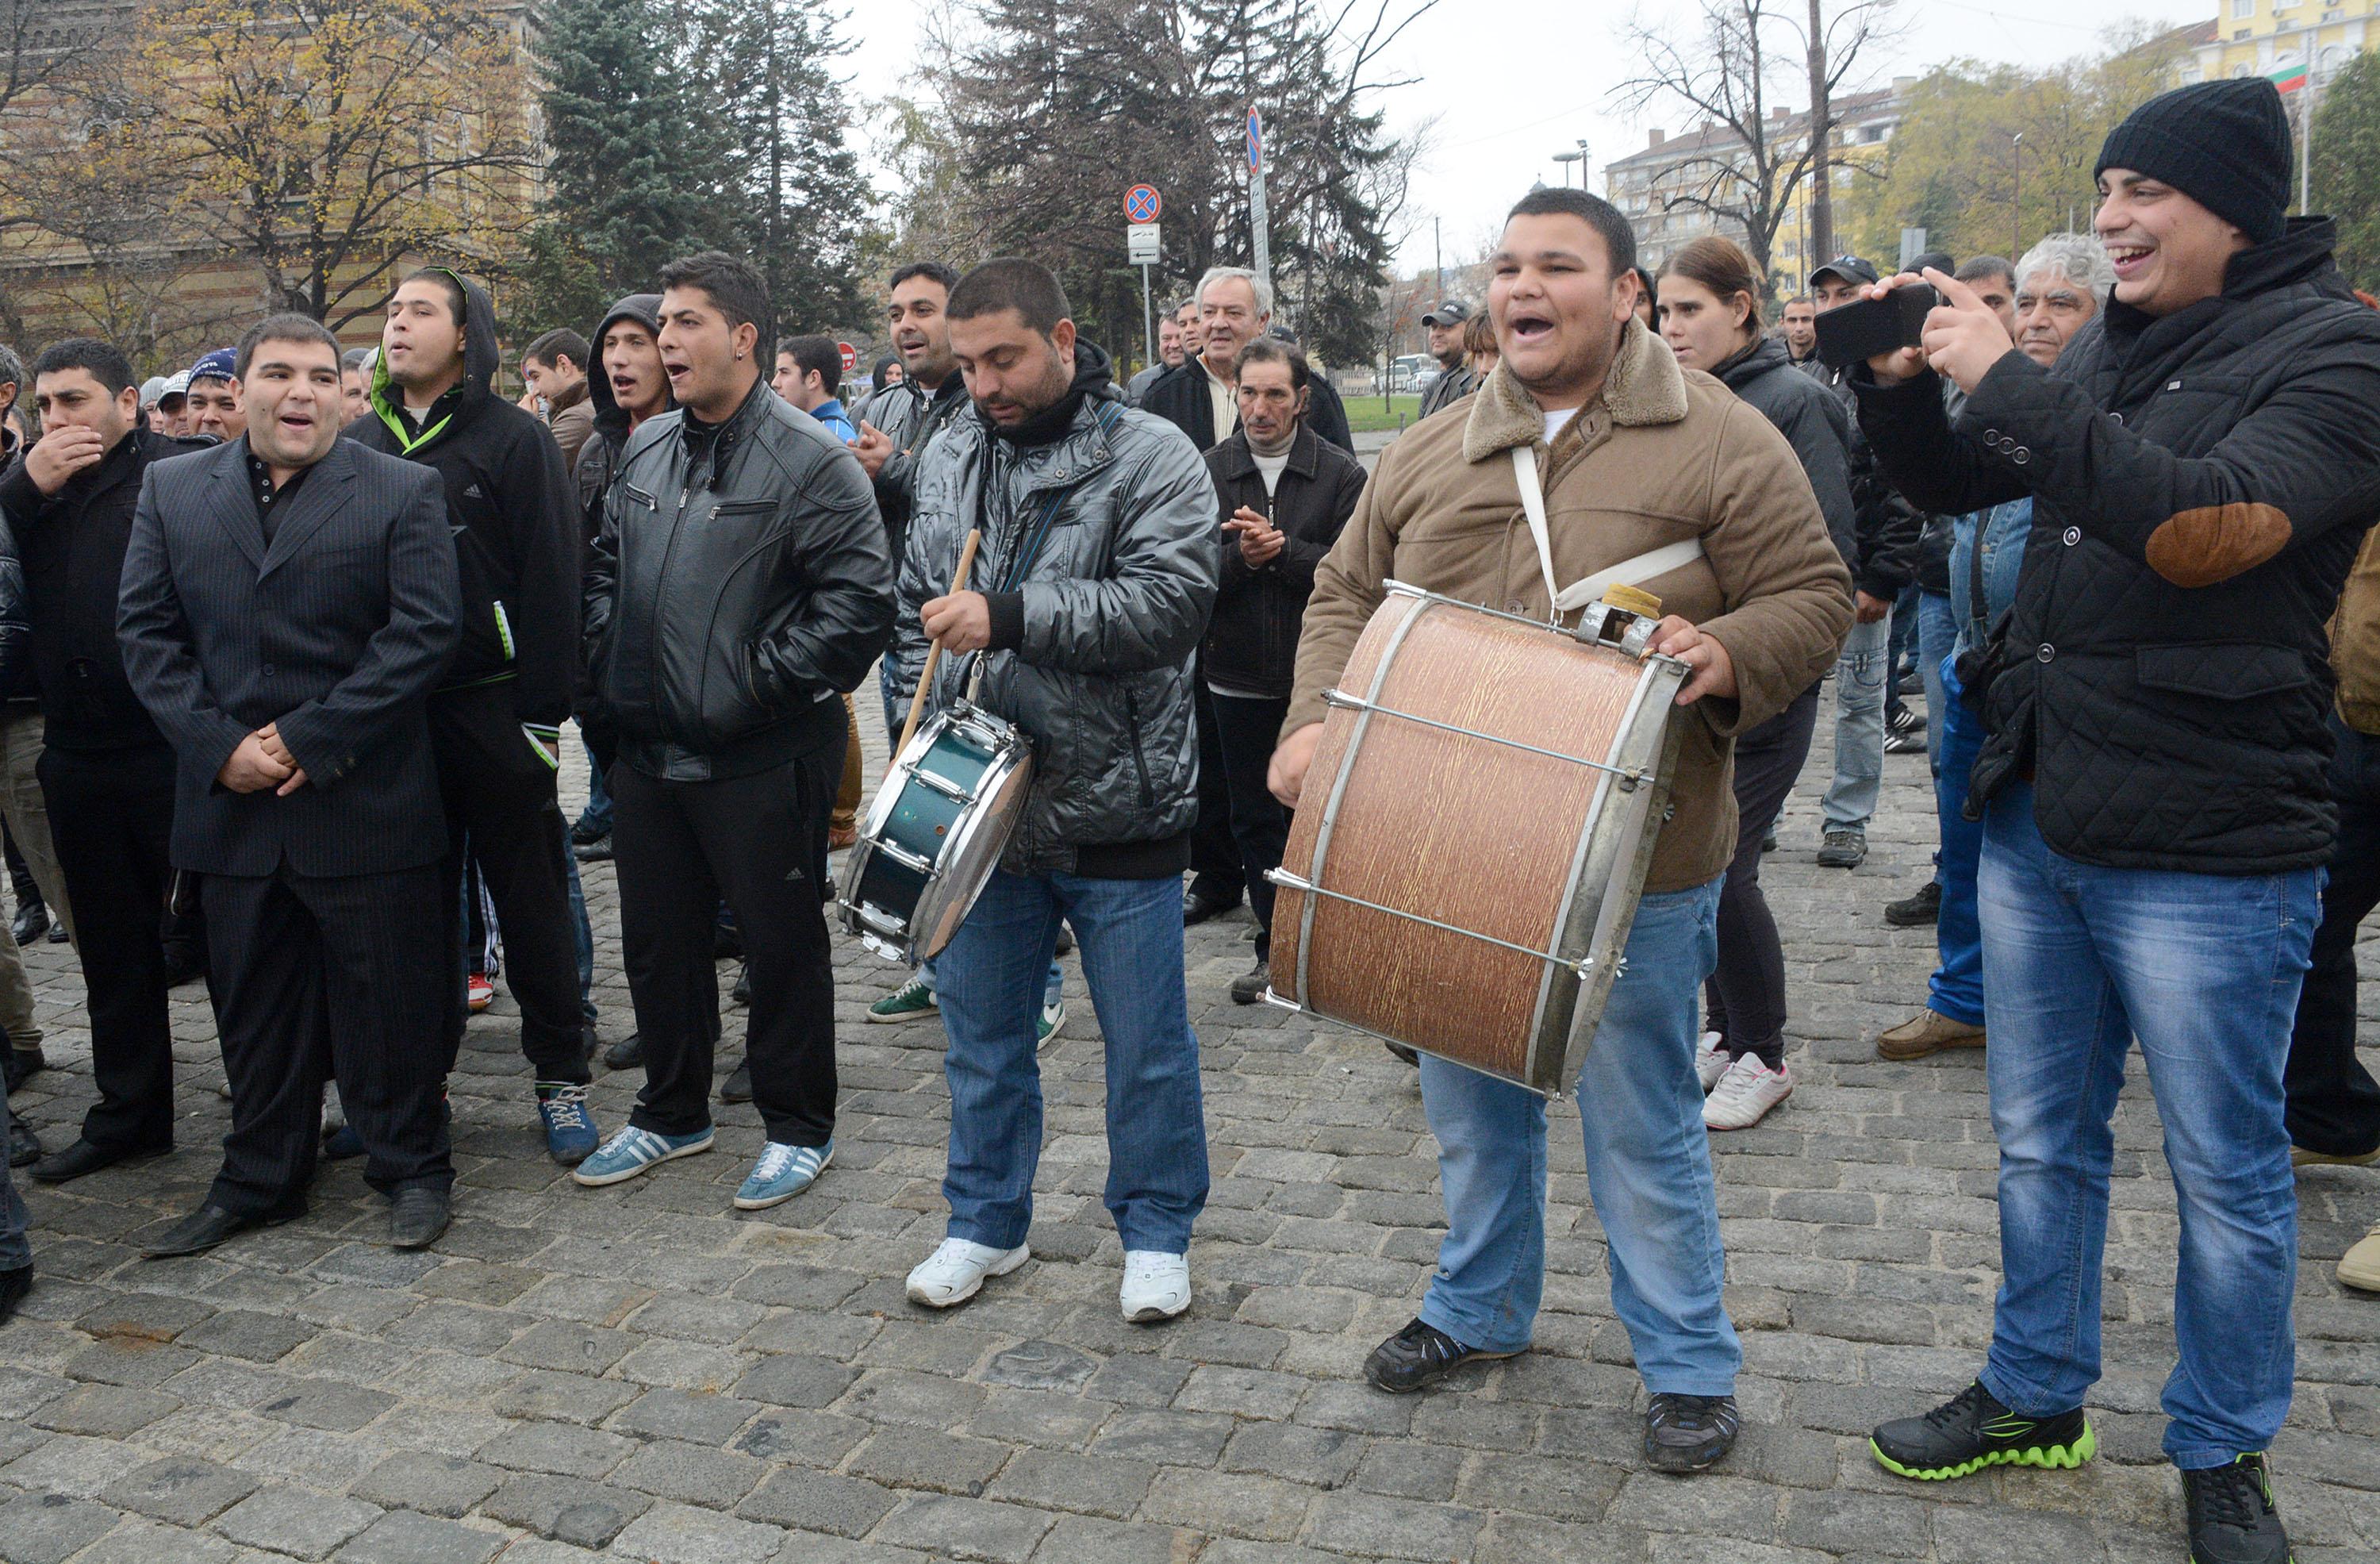
[[[1656,612],[1566,631],[1390,581],[1273,874],[1266,1000],[1561,1095],[1668,809]]]

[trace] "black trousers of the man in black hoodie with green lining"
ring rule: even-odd
[[[462,1052],[464,850],[495,902],[505,933],[505,983],[521,1005],[521,1052],[538,1081],[585,1083],[585,1016],[578,1009],[578,919],[571,916],[569,826],[555,797],[555,764],[512,714],[512,688],[431,697],[431,747],[447,812],[445,931],[447,1069]]]

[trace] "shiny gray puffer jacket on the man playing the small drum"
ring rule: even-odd
[[[1078,381],[1081,383],[1081,381]],[[1019,533],[1061,495],[1021,581]],[[900,688],[926,662],[919,609],[950,590],[983,526],[971,590],[995,595],[976,705],[1033,738],[1033,795],[1002,867],[1012,874],[1152,878],[1197,817],[1190,659],[1221,574],[1214,481],[1173,424],[1100,386],[1047,445],[952,419],[916,476],[900,567]],[[1014,593],[1007,602],[997,595]],[[1021,605],[1021,624],[1014,614]],[[928,709],[966,690],[973,657],[942,657]]]

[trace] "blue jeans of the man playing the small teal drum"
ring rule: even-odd
[[[1107,1033],[1107,1212],[1126,1250],[1185,1255],[1207,1207],[1207,1114],[1173,876],[995,871],[935,957],[950,1033],[950,1235],[1012,1250],[1033,1226],[1042,1143],[1033,1021],[1059,919],[1073,924]]]

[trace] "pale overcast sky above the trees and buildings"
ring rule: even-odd
[[[2011,10],[1994,0],[1902,0],[1904,36],[1864,71],[1864,86],[1885,86],[1894,74],[1918,74],[1961,55],[2052,64],[2094,52],[2125,21],[2182,26],[2206,19],[2216,2],[2016,0]],[[1590,143],[1592,188],[1602,190],[1602,164],[1640,150],[1649,126],[1687,129],[1678,107],[1623,114],[1609,102],[1611,86],[1628,74],[1618,50],[1628,14],[1626,0],[1440,0],[1409,29],[1395,67],[1416,83],[1388,95],[1390,124],[1411,131],[1435,117],[1435,129],[1402,224],[1402,267],[1430,264],[1433,219],[1449,264],[1478,252],[1504,207],[1530,183],[1564,181],[1566,169],[1552,155],[1578,138]],[[1656,26],[1690,29],[1699,7],[1642,0],[1637,14]],[[852,71],[862,95],[909,90],[921,21],[921,0],[857,7],[850,33],[859,40]],[[1516,60],[1530,64],[1516,71]],[[1790,81],[1780,88],[1790,107],[1806,105],[1806,93]],[[1161,169],[1147,176],[1164,186]],[[1576,164],[1568,176],[1576,179]]]

